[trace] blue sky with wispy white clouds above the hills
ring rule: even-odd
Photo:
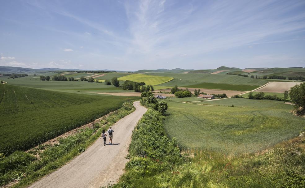
[[[304,0],[0,0],[0,66],[305,67],[304,52]]]

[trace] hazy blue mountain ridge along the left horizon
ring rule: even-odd
[[[0,66],[0,73],[35,73],[35,72],[42,72],[42,71],[56,71],[56,70],[64,70],[64,71],[81,71],[84,69],[61,69],[61,68],[42,68],[42,69],[31,69],[31,68],[23,68],[23,67],[13,67],[13,66]],[[96,69],[94,71],[98,71]],[[117,71],[117,72],[128,72],[128,71],[121,71],[121,70],[108,70],[103,69],[104,71]],[[86,69],[88,71],[88,69]],[[90,70],[89,70],[90,71]],[[93,70],[92,70],[93,71]]]

